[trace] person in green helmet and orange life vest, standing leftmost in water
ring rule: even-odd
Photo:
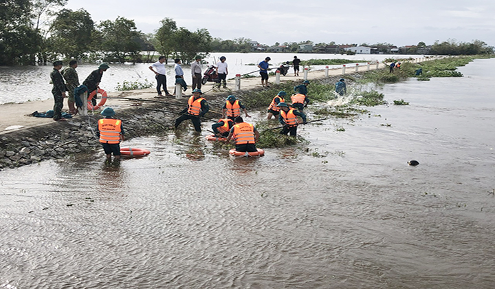
[[[124,140],[124,127],[122,127],[122,120],[112,118],[115,116],[115,111],[111,107],[103,109],[101,112],[102,118],[98,120],[97,136],[100,138],[103,150],[107,155],[107,158],[115,156],[115,160],[120,158],[120,142]]]

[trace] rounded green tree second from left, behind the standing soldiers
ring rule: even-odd
[[[89,13],[80,9],[63,9],[50,26],[50,50],[66,58],[80,59],[89,52],[96,32]]]

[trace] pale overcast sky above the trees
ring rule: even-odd
[[[97,23],[133,19],[144,33],[155,32],[168,17],[191,31],[206,28],[213,37],[267,45],[311,40],[403,46],[478,39],[495,46],[495,0],[69,0],[65,8],[84,8]]]

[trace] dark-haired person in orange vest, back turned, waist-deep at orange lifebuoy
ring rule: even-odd
[[[229,142],[230,139],[235,140],[236,151],[248,151],[248,153],[258,151],[255,143],[256,140],[259,140],[259,132],[256,127],[244,122],[241,116],[237,116],[234,122],[235,125],[230,129],[226,142]]]

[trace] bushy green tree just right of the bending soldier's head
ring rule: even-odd
[[[100,49],[104,52],[104,61],[124,63],[128,56],[135,58],[140,50],[141,32],[137,31],[133,20],[117,17],[115,21],[105,20],[98,25],[100,29]]]

